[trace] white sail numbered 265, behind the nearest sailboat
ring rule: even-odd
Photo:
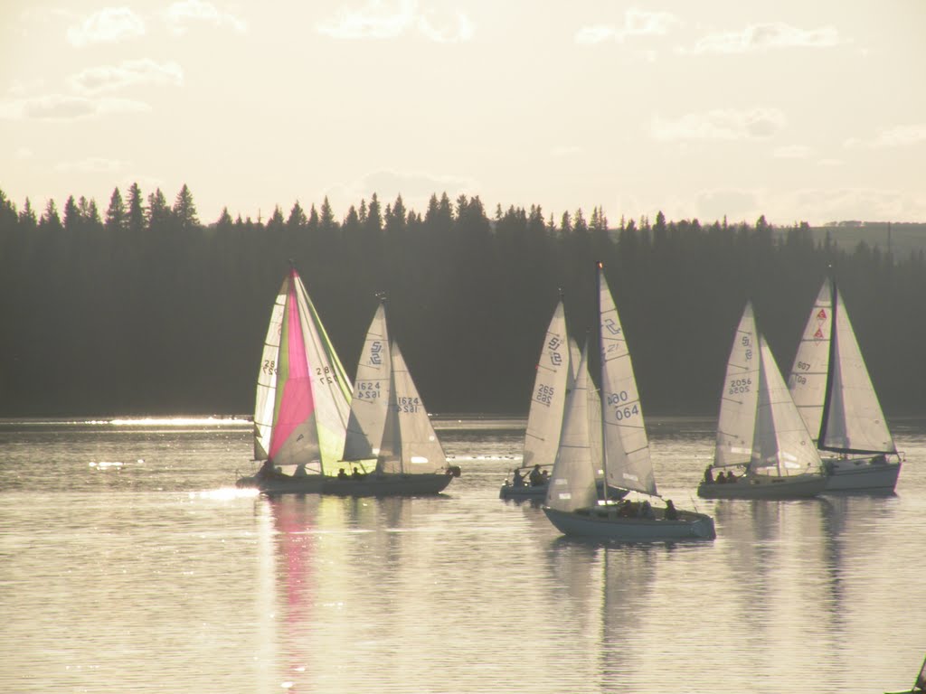
[[[524,435],[525,466],[553,465],[556,459],[566,391],[573,368],[569,356],[566,312],[560,300],[546,328],[544,347],[537,362],[531,409]]]

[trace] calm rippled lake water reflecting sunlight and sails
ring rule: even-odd
[[[926,651],[926,420],[892,497],[700,502],[714,422],[647,424],[713,542],[562,539],[498,488],[523,420],[438,421],[437,498],[269,500],[242,420],[0,422],[2,692],[858,692]]]

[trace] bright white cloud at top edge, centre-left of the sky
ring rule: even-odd
[[[399,0],[392,4],[369,0],[359,9],[342,9],[332,19],[316,25],[316,31],[334,39],[394,39],[418,32],[436,43],[469,41],[473,23],[460,11],[452,16],[432,9],[419,8],[416,0]]]

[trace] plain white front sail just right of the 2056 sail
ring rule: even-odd
[[[761,335],[758,352],[759,390],[751,472],[778,477],[819,472],[820,453]]]

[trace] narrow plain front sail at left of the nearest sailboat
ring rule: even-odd
[[[589,447],[587,350],[582,351],[579,375],[566,401],[556,464],[546,488],[546,505],[557,511],[574,511],[597,503],[594,467]],[[596,423],[597,424],[597,423]]]

